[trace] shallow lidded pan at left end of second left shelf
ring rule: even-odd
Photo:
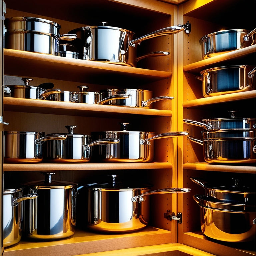
[[[4,96],[23,98],[23,99],[39,99],[40,94],[42,94],[47,89],[53,88],[53,83],[43,83],[38,86],[30,86],[30,82],[33,81],[32,78],[22,78],[24,85],[6,85],[4,86]]]

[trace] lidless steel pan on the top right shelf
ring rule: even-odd
[[[253,31],[245,29],[221,30],[203,36],[199,43],[202,47],[202,58],[216,56],[232,50],[242,49],[255,43]]]

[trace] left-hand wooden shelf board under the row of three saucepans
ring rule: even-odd
[[[128,169],[171,169],[170,163],[37,163],[3,164],[3,171],[58,171],[58,170],[128,170]]]

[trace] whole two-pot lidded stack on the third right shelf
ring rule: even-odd
[[[183,119],[184,123],[203,127],[203,139],[189,136],[203,145],[208,163],[254,163],[256,153],[255,118],[235,117],[203,119],[202,122]]]

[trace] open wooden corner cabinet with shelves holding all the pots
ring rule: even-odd
[[[76,125],[77,133],[90,134],[119,130],[118,122],[128,122],[130,130],[155,131],[156,134],[184,130],[199,137],[201,130],[184,125],[183,117],[198,121],[219,115],[225,117],[225,110],[234,108],[242,116],[255,117],[255,91],[203,98],[201,82],[195,78],[201,70],[212,66],[255,65],[255,45],[202,60],[199,44],[202,36],[222,28],[252,30],[255,21],[253,1],[245,7],[246,12],[237,8],[244,7],[241,0],[64,0],[61,5],[48,0],[37,4],[32,2],[6,0],[6,17],[31,16],[53,20],[61,24],[61,34],[86,24],[97,25],[100,21],[133,31],[136,37],[187,21],[192,29],[189,35],[182,31],[141,43],[137,47],[138,56],[158,50],[169,51],[170,55],[142,60],[136,68],[4,49],[4,74],[31,77],[34,79],[31,85],[50,81],[55,88],[69,91],[77,90],[78,85],[87,85],[90,91],[132,87],[151,90],[154,96],[174,97],[171,101],[154,103],[153,109],[4,97],[3,116],[9,123],[5,130],[63,133],[65,125]],[[32,253],[153,255],[156,252],[159,255],[255,255],[254,242],[224,243],[202,234],[199,206],[192,196],[204,191],[190,181],[190,177],[200,176],[210,180],[242,178],[251,183],[255,180],[255,165],[207,164],[203,160],[202,146],[189,142],[187,137],[157,140],[154,162],[151,163],[3,164],[3,171],[5,182],[11,184],[41,180],[39,171],[54,171],[54,179],[80,184],[116,174],[120,179],[151,183],[154,189],[191,188],[185,194],[151,196],[150,225],[127,234],[96,234],[85,230],[82,213],[86,205],[80,198],[78,203],[82,210],[79,213],[82,217],[78,218],[72,237],[43,242],[22,240],[5,248],[4,256]],[[182,223],[165,218],[167,211],[182,213]]]

